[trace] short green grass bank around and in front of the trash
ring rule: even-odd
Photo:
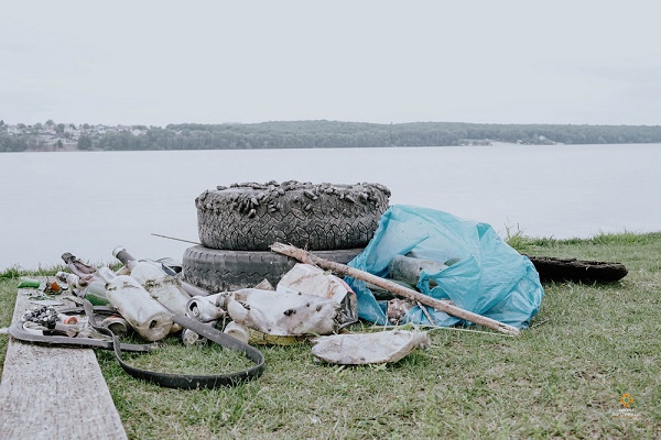
[[[621,262],[629,274],[545,285],[520,338],[434,330],[429,350],[387,366],[315,364],[305,344],[262,348],[258,381],[183,392],[130,378],[109,352],[97,358],[130,438],[659,438],[661,233],[509,242],[530,255]],[[18,274],[4,275],[0,327],[17,290]],[[6,345],[0,337],[2,359]],[[241,362],[167,345],[132,362],[206,373]]]

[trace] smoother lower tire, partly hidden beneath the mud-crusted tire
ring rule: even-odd
[[[315,255],[346,264],[362,249],[315,251]],[[273,287],[297,261],[274,252],[227,251],[193,246],[184,251],[184,280],[210,293],[254,287],[264,278]]]

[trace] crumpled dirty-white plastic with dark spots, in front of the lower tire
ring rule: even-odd
[[[234,321],[266,334],[330,334],[339,328],[339,302],[304,294],[247,288],[227,296]]]

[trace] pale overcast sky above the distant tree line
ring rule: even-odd
[[[6,123],[661,124],[661,2],[8,1]]]

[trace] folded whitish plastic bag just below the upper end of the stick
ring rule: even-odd
[[[296,263],[282,276],[275,292],[302,293],[333,299],[342,306],[339,310],[340,327],[358,321],[358,304],[354,290],[344,279],[312,264]]]

